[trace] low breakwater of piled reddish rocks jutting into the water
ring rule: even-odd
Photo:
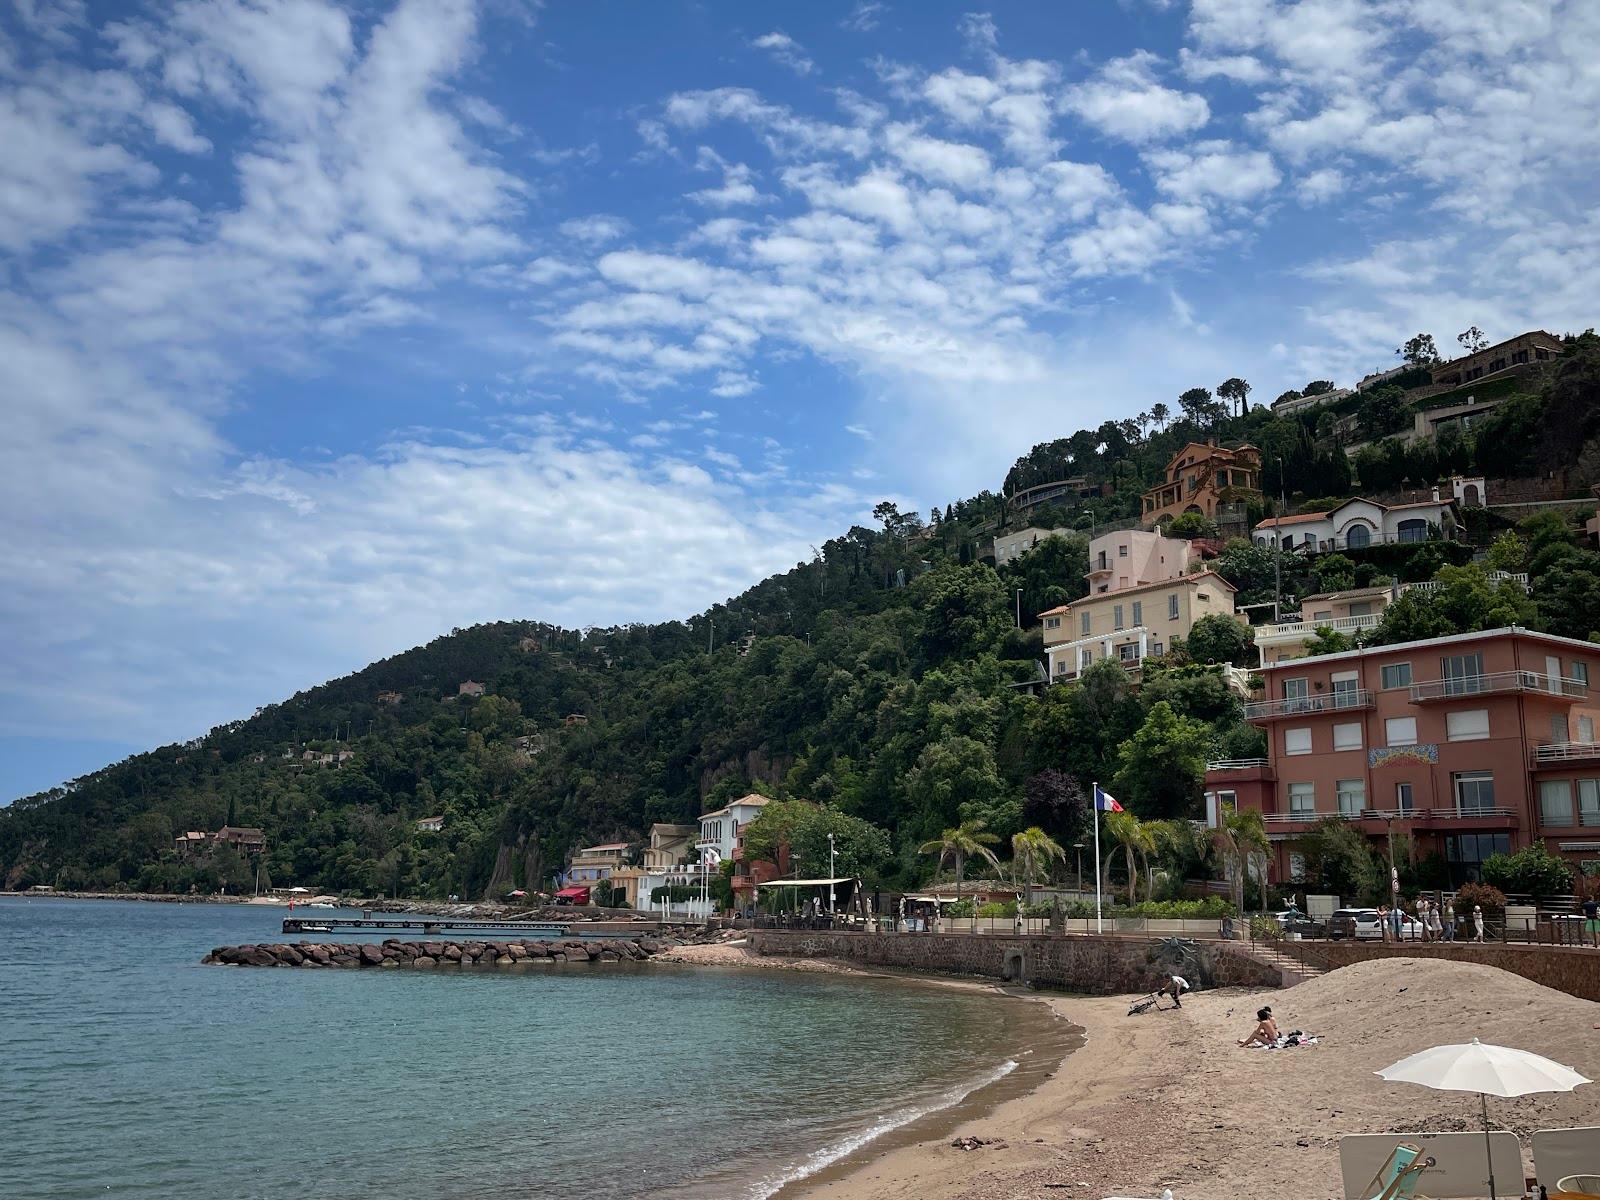
[[[715,936],[701,931],[648,938],[565,938],[555,941],[400,941],[382,942],[256,942],[218,946],[202,963],[218,966],[515,966],[518,963],[619,963],[654,958],[680,946]]]

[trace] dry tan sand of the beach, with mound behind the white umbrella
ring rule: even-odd
[[[818,960],[752,958],[738,946],[685,947],[678,962],[851,971]],[[1394,958],[1278,992],[1226,989],[1181,1010],[1130,1018],[1128,997],[1043,997],[1086,1045],[1034,1091],[925,1141],[866,1149],[784,1197],[806,1200],[1021,1200],[1160,1195],[1178,1200],[1339,1200],[1344,1133],[1477,1130],[1475,1096],[1386,1083],[1374,1074],[1426,1046],[1518,1046],[1600,1078],[1600,1003],[1491,966]],[[1240,1050],[1254,1010],[1315,1046]],[[1534,1130],[1600,1125],[1600,1085],[1491,1101],[1490,1120]],[[976,1149],[958,1138],[986,1139]]]

